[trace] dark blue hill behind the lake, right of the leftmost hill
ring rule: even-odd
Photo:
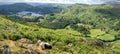
[[[52,14],[52,13],[59,13],[61,12],[63,7],[61,5],[55,5],[55,4],[44,4],[35,6],[32,8],[27,9],[26,11],[32,11],[40,14]]]

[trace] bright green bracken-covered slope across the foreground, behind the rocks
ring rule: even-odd
[[[70,53],[74,54],[112,54],[111,47],[98,47],[96,45],[89,45],[86,42],[78,41],[79,38],[85,38],[84,35],[72,29],[58,29],[51,30],[46,28],[30,27],[18,22],[7,19],[8,17],[0,16],[0,37],[5,39],[17,40],[19,38],[29,38],[34,42],[36,39],[41,39],[52,44],[53,49],[51,54]],[[87,38],[94,41],[94,38]],[[73,43],[73,47],[67,47],[67,43]],[[1,45],[0,45],[1,46]],[[96,48],[97,47],[97,48]],[[16,47],[18,48],[18,47]],[[13,48],[13,51],[16,50]],[[47,51],[46,51],[47,52]]]

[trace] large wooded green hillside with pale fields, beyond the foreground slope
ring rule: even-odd
[[[86,36],[96,38],[109,34],[114,36],[110,40],[112,41],[115,40],[115,37],[119,37],[119,9],[119,6],[112,5],[75,4],[59,14],[46,15],[40,18],[38,25],[52,29],[70,28]]]

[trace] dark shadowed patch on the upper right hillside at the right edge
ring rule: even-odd
[[[99,9],[96,9],[95,12],[102,14],[103,17],[105,17],[105,18],[111,18],[111,19],[119,18],[120,19],[120,15],[119,15],[120,8],[119,7],[99,8]]]

